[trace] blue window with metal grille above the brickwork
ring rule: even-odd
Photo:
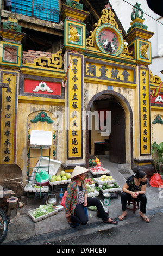
[[[59,0],[6,0],[5,7],[12,13],[59,23]]]

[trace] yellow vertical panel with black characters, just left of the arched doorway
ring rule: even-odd
[[[68,72],[68,142],[67,159],[83,158],[83,56],[68,56],[70,69]]]

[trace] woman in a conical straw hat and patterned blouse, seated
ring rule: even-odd
[[[88,169],[76,166],[71,175],[71,182],[67,187],[67,196],[65,203],[65,212],[70,227],[76,227],[76,223],[86,225],[87,216],[84,207],[96,206],[99,216],[106,224],[117,224],[117,221],[111,220],[106,214],[101,201],[97,198],[87,197],[85,185],[85,173]]]

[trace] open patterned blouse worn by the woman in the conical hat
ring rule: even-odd
[[[84,193],[87,194],[86,185],[84,181],[82,182],[82,187],[84,190]],[[78,181],[72,180],[67,187],[67,196],[66,196],[66,202],[65,202],[65,212],[68,214],[70,212],[74,215],[74,209],[77,205],[77,198],[78,198]]]

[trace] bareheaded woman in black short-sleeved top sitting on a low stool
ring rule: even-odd
[[[147,175],[142,170],[137,170],[137,172],[127,179],[126,184],[124,184],[121,196],[122,203],[122,214],[119,216],[119,220],[123,221],[127,215],[126,204],[128,200],[140,201],[140,217],[147,223],[149,223],[149,218],[145,215],[147,198],[145,195],[147,184]]]

